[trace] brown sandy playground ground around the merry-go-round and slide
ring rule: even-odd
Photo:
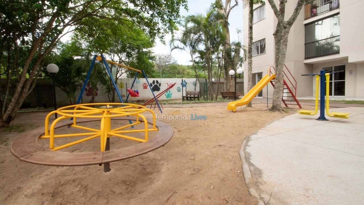
[[[177,108],[180,115],[206,115],[208,119],[162,120],[174,130],[165,147],[113,162],[108,173],[97,165],[52,167],[21,162],[10,152],[11,141],[27,130],[44,126],[47,112],[21,113],[13,122],[17,129],[0,129],[0,204],[257,204],[256,198],[249,195],[242,175],[238,153],[241,144],[246,136],[265,124],[297,109],[272,113],[266,111],[265,104],[253,106],[235,113],[227,111],[226,106]],[[175,110],[165,108],[163,115]],[[56,134],[71,131],[60,128]],[[67,139],[62,140],[56,143],[62,144]],[[98,140],[62,151],[98,151]],[[39,142],[48,146],[46,139]],[[117,137],[110,142],[111,149],[136,143]]]

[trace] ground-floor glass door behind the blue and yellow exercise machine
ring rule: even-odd
[[[323,67],[323,70],[345,71],[345,65]],[[331,74],[329,85],[330,96],[345,96],[345,72]]]

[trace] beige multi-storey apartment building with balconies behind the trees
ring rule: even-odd
[[[298,0],[286,1],[288,19]],[[248,4],[243,1],[243,42],[248,47]],[[277,18],[267,0],[254,5],[253,75],[255,85],[274,66],[274,38]],[[278,6],[279,1],[275,0]],[[297,81],[297,97],[314,96],[313,77],[301,74],[320,70],[344,70],[330,78],[330,96],[364,97],[364,0],[306,1],[289,37],[285,65]],[[244,63],[248,68],[248,62]],[[248,82],[248,69],[244,81]],[[247,86],[244,88],[247,92]],[[273,87],[268,84],[268,97]],[[257,97],[266,97],[263,89]],[[335,98],[336,99],[336,98]]]

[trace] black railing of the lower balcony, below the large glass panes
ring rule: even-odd
[[[305,59],[340,53],[340,36],[305,43]]]

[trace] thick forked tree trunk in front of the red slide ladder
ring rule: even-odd
[[[282,112],[281,100],[283,92],[283,66],[286,58],[288,34],[293,23],[296,21],[298,14],[305,0],[298,0],[296,8],[294,8],[292,16],[288,20],[285,19],[285,0],[279,0],[279,10],[274,3],[274,0],[268,0],[270,7],[272,7],[274,15],[277,17],[276,30],[273,33],[274,36],[274,58],[276,67],[276,83],[273,91],[273,103],[270,111]]]

